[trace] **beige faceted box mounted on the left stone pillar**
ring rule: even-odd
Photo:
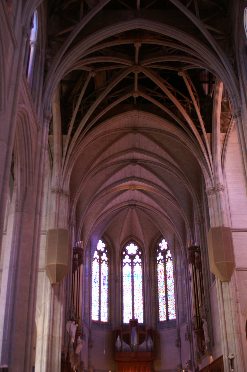
[[[45,269],[52,284],[69,272],[69,230],[50,229],[46,237]]]

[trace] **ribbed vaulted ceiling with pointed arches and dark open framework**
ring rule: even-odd
[[[49,143],[53,164],[53,147],[60,149],[78,240],[95,246],[104,234],[116,247],[127,238],[150,246],[164,235],[182,245],[193,236],[199,195],[215,183],[216,105],[219,132],[233,125],[225,7],[223,0],[51,2],[45,84],[53,72],[58,86]]]

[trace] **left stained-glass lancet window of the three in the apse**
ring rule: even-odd
[[[108,321],[108,253],[98,241],[92,260],[92,320]]]

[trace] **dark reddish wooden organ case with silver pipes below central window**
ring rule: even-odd
[[[155,359],[153,328],[139,331],[138,320],[132,319],[129,330],[115,328],[115,360],[118,362],[150,362]]]

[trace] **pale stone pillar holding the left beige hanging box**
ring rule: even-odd
[[[61,202],[64,198],[66,200]],[[62,217],[63,213],[66,214],[66,211],[68,211],[68,194],[66,193],[63,196],[62,189],[58,186],[53,186],[51,199],[52,213],[47,221],[47,229],[67,228],[67,216],[65,216],[65,219]],[[61,205],[62,208],[60,208]],[[61,224],[61,221],[66,221],[66,223]],[[62,341],[65,339],[66,326],[66,283],[69,283],[68,276],[65,276],[60,284],[52,285],[44,272],[40,318],[42,327],[40,327],[40,333],[37,335],[35,372],[61,371]]]

